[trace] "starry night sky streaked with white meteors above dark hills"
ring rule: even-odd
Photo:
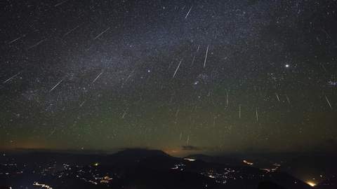
[[[337,1],[1,1],[0,148],[337,148]]]

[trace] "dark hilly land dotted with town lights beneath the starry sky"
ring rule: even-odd
[[[298,158],[287,162],[271,159],[174,158],[162,151],[143,149],[112,155],[7,152],[0,158],[0,188],[312,188],[309,182],[292,176],[300,178],[290,165],[300,167]],[[320,175],[316,181],[320,183],[314,188],[336,188],[333,172]]]

